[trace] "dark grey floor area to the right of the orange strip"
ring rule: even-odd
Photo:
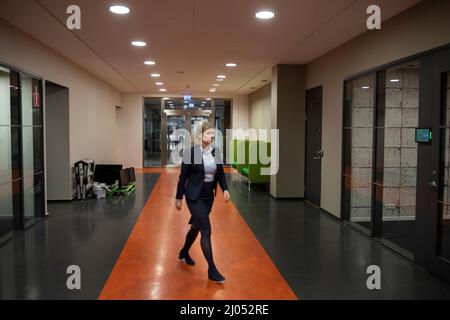
[[[450,286],[300,200],[275,200],[228,176],[232,200],[300,299],[450,299]],[[367,289],[367,267],[381,290]]]

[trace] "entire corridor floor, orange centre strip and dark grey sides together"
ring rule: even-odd
[[[376,241],[303,201],[248,191],[234,174],[233,202],[219,193],[211,215],[227,281],[211,283],[198,242],[195,267],[177,259],[189,228],[185,204],[173,208],[179,169],[145,172],[156,174],[138,173],[134,196],[52,203],[50,217],[0,247],[0,299],[450,299],[448,285]],[[69,265],[81,267],[80,291],[66,288]],[[366,287],[370,265],[382,290]]]

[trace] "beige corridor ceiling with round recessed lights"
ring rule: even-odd
[[[366,32],[369,5],[378,4],[386,21],[418,2],[1,0],[0,18],[122,92],[160,93],[155,82],[161,81],[167,94],[212,95],[217,83],[220,96],[253,92],[270,81],[274,65],[310,62]],[[73,4],[81,8],[81,30],[66,27]],[[130,14],[112,14],[116,4]],[[256,19],[262,9],[275,18]],[[148,45],[133,47],[133,40]],[[226,68],[228,62],[238,66]],[[151,78],[154,72],[161,77]],[[227,78],[216,82],[220,74]]]

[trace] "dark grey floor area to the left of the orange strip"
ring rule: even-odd
[[[0,299],[96,299],[158,179],[136,174],[128,198],[52,202],[51,215],[0,247]],[[81,290],[66,287],[81,268]]]

